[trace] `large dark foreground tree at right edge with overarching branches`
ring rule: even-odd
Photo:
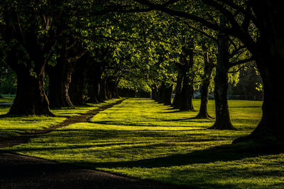
[[[177,11],[166,6],[150,4],[148,1],[138,1],[152,6],[174,16],[197,21],[214,30],[221,28],[216,23],[195,16],[185,11]],[[175,1],[170,1],[175,2]],[[284,80],[283,57],[283,28],[280,27],[283,18],[283,5],[280,1],[223,1],[203,0],[204,4],[214,8],[228,18],[229,26],[222,31],[228,35],[239,38],[256,60],[258,70],[263,80],[263,117],[256,129],[249,135],[236,141],[246,139],[268,140],[269,142],[283,139],[284,132],[284,98],[281,82]],[[239,19],[239,18],[242,19]],[[257,35],[252,33],[257,31]],[[273,62],[273,64],[271,64]]]

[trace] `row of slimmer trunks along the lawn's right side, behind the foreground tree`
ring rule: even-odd
[[[190,110],[194,111],[192,105],[192,96],[194,93],[194,71],[193,69],[193,43],[189,42],[182,49],[182,56],[180,58],[180,64],[178,64],[178,79],[175,87],[175,98],[171,104],[173,108],[179,110]],[[212,59],[209,59],[207,50],[204,49],[204,75],[202,84],[200,86],[200,111],[195,118],[212,118],[207,112],[207,103],[209,95],[209,85],[212,78],[212,71],[215,67]],[[216,76],[214,78],[214,98],[215,98],[215,113],[216,120],[212,127],[209,129],[216,130],[235,130],[231,124],[229,116],[229,106],[227,101],[227,89],[228,89],[228,72],[229,72],[229,37],[222,33],[218,36],[218,55],[217,55],[217,66]],[[157,87],[152,87],[152,99],[157,101],[157,93],[165,93],[165,84],[162,83],[160,90]],[[170,101],[169,99],[167,100]],[[158,98],[159,103],[170,105],[165,103],[161,95]]]

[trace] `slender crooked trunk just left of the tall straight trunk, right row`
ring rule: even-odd
[[[214,64],[209,60],[208,52],[204,53],[204,79],[200,87],[200,112],[195,117],[197,119],[212,118],[207,112],[207,103],[209,95],[209,86],[211,82]]]

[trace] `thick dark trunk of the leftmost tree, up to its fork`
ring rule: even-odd
[[[16,98],[9,110],[9,115],[48,115],[54,116],[50,112],[48,98],[44,90],[45,64],[48,57],[45,57],[38,41],[33,33],[28,33],[28,45],[26,50],[29,57],[25,59],[18,47],[11,47],[11,51],[7,52],[6,62],[17,75],[17,91]],[[51,49],[52,45],[46,45],[47,49]],[[50,47],[50,48],[49,48]],[[25,61],[18,62],[19,59]]]

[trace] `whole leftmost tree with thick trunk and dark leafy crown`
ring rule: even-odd
[[[18,78],[17,94],[9,114],[53,115],[44,91],[44,69],[56,42],[53,37],[59,33],[50,27],[47,6],[50,5],[41,1],[1,4],[0,32],[5,62]]]

